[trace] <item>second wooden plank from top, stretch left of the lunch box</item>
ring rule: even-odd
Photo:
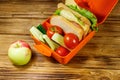
[[[0,19],[1,34],[29,34],[32,26],[37,26],[42,19]]]

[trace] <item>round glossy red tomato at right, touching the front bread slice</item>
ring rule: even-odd
[[[68,48],[73,49],[79,44],[79,38],[73,33],[67,33],[64,36],[64,43]]]

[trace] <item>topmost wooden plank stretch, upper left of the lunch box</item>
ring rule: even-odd
[[[46,5],[44,5],[46,4]],[[9,7],[8,7],[9,6]],[[0,3],[1,18],[47,18],[55,11],[56,1]]]

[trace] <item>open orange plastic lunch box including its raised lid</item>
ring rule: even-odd
[[[103,23],[114,6],[117,4],[118,0],[75,0],[75,2],[80,6],[83,7],[91,12],[93,12],[97,19],[97,25]],[[48,28],[50,27],[49,18],[43,22],[43,27]],[[77,53],[78,51],[94,36],[95,31],[90,32],[80,43],[77,47],[71,50],[71,52],[66,56],[60,56],[55,51],[51,50],[50,47],[37,39],[33,36],[33,40],[35,42],[34,47],[37,51],[45,56],[55,58],[61,64],[67,64]]]

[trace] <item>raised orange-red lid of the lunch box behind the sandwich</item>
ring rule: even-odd
[[[102,24],[118,0],[75,0],[82,8],[85,8],[94,13],[98,19],[98,24]]]

